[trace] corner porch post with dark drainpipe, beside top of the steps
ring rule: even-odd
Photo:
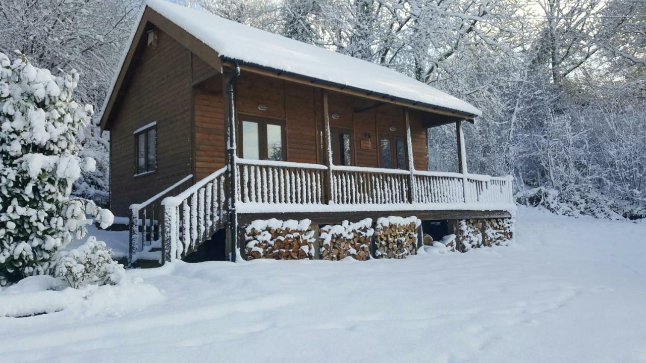
[[[227,119],[229,125],[227,128],[227,172],[229,174],[229,250],[231,251],[231,262],[236,262],[236,252],[238,247],[238,213],[236,213],[236,202],[238,201],[238,178],[236,175],[236,123],[235,123],[235,103],[234,103],[234,83],[240,76],[240,66],[236,63],[233,72],[227,72],[227,94],[229,107],[227,110]]]

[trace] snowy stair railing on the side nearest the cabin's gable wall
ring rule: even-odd
[[[180,186],[189,182],[193,174],[182,178],[179,182],[174,183],[161,192],[158,192],[143,203],[134,203],[130,205],[130,237],[128,260],[132,262],[132,256],[143,251],[147,245],[159,239],[160,221],[163,211],[161,210],[161,198],[174,191],[178,191]],[[140,238],[140,232],[141,238]]]

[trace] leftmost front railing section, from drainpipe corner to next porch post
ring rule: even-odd
[[[238,196],[243,203],[321,204],[324,165],[238,159]]]

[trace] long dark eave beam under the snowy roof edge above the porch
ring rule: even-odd
[[[223,65],[230,65],[233,63],[230,62],[224,62]],[[393,99],[388,96],[379,96],[374,94],[373,92],[366,92],[366,91],[360,91],[360,90],[355,90],[351,88],[345,88],[344,86],[337,86],[337,85],[330,85],[326,83],[322,83],[322,81],[317,81],[316,79],[306,79],[304,77],[298,77],[295,75],[291,74],[285,74],[281,72],[275,72],[273,70],[266,70],[263,68],[258,68],[258,67],[253,67],[251,65],[240,65],[240,69],[246,70],[248,72],[253,72],[257,74],[264,74],[265,76],[269,77],[274,77],[274,78],[280,78],[280,79],[285,79],[286,81],[291,81],[295,83],[300,83],[303,85],[311,85],[313,87],[318,87],[318,88],[323,88],[326,90],[331,90],[335,92],[340,92],[343,94],[349,94],[351,96],[357,96],[359,98],[364,98],[364,99],[372,99],[374,101],[380,101],[383,103],[391,103],[393,105],[399,105],[399,106],[405,106],[410,109],[416,109],[416,110],[422,110],[426,112],[432,112],[434,114],[441,114],[445,116],[455,116],[457,118],[461,119],[472,119],[474,118],[474,115],[471,114],[466,114],[463,112],[454,112],[450,110],[444,110],[441,109],[440,107],[435,107],[432,105],[423,105],[421,103],[416,103],[413,101],[410,102],[405,102],[405,101],[400,101],[398,99]]]

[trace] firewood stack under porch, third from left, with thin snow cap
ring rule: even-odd
[[[417,253],[417,217],[379,218],[375,227],[376,258],[406,258]]]

